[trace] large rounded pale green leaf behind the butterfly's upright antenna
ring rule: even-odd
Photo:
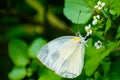
[[[91,18],[92,10],[84,0],[65,0],[64,14],[73,23],[84,24]]]

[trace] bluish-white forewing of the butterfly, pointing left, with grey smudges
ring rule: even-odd
[[[64,36],[64,37],[59,37],[55,40],[50,41],[39,51],[37,56],[38,59],[47,67],[51,68],[51,66],[53,65],[51,58],[52,59],[58,58],[58,55],[55,55],[55,52],[58,50],[58,48],[62,44],[64,44],[66,41],[70,40],[73,37],[74,36]]]

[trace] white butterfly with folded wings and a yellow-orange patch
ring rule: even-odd
[[[75,78],[84,65],[85,38],[63,36],[50,41],[38,53],[38,59],[56,74]]]

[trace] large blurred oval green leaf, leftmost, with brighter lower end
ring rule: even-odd
[[[12,39],[9,41],[9,56],[13,63],[16,66],[26,66],[29,57],[28,57],[28,46],[25,42],[18,40],[18,39]]]

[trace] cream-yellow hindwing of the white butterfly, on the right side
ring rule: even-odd
[[[84,45],[71,39],[64,43],[58,52],[60,57],[53,64],[52,69],[62,77],[77,77],[84,64]]]

